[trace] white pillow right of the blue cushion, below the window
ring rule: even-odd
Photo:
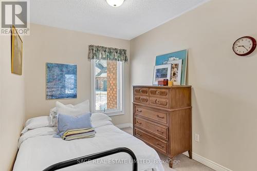
[[[93,128],[103,125],[113,125],[111,121],[112,118],[108,117],[104,113],[92,113],[91,115],[91,124]]]

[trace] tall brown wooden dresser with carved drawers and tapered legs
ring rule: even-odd
[[[191,86],[133,86],[133,134],[169,157],[192,159]]]

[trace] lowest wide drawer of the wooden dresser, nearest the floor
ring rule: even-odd
[[[167,142],[159,140],[137,128],[135,128],[135,136],[167,154]]]

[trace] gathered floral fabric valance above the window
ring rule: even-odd
[[[88,59],[127,62],[126,49],[89,45]]]

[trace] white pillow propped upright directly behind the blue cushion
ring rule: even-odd
[[[57,115],[61,113],[62,115],[79,116],[89,112],[89,100],[79,103],[73,107],[65,106],[60,102],[56,102]]]

